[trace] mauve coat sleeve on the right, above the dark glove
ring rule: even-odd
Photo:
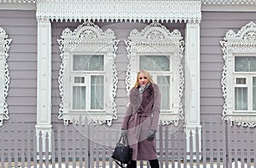
[[[150,130],[157,130],[157,125],[159,123],[160,118],[160,102],[161,102],[161,94],[158,85],[154,85],[154,106],[152,108],[152,123],[150,126]]]

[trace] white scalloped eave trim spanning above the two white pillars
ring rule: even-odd
[[[37,18],[50,20],[201,21],[201,0],[38,0]]]

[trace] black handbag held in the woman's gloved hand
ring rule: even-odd
[[[131,155],[132,148],[129,146],[128,138],[127,136],[121,135],[119,142],[114,148],[112,158],[119,166],[124,168],[123,164],[131,164]]]

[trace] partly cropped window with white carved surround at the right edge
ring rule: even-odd
[[[224,52],[223,119],[230,125],[256,126],[256,25],[237,33],[230,30],[221,41]]]

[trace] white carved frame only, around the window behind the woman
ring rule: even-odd
[[[170,32],[166,26],[154,21],[146,26],[142,32],[134,29],[129,40],[125,40],[128,67],[126,72],[125,84],[126,91],[129,93],[135,80],[139,68],[140,55],[168,55],[170,56],[172,71],[172,111],[160,112],[160,121],[162,125],[178,125],[178,121],[183,119],[183,49],[184,41],[181,32],[177,29]],[[172,58],[173,57],[173,58]],[[149,71],[150,72],[150,71]],[[164,72],[163,72],[164,73]]]

